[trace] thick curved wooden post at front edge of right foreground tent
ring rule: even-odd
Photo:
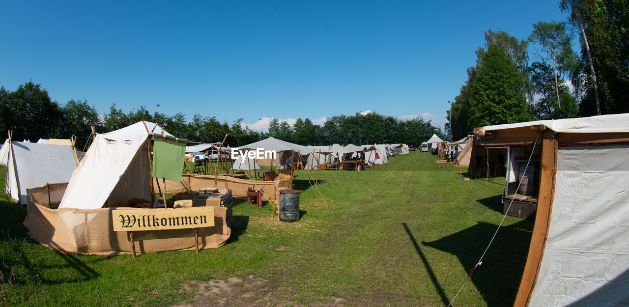
[[[514,307],[525,307],[531,297],[537,281],[537,274],[542,264],[543,250],[548,235],[550,211],[552,211],[553,195],[555,194],[555,175],[557,174],[557,138],[552,130],[542,131],[542,159],[540,172],[540,194],[535,213],[535,226],[528,248],[526,265],[515,298]]]

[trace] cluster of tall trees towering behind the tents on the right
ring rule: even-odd
[[[479,126],[629,112],[627,1],[560,0],[559,7],[567,20],[535,23],[526,39],[485,32],[450,103],[446,134],[457,140]]]

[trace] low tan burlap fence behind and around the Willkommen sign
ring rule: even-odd
[[[50,184],[51,192],[58,192],[58,188],[59,186]],[[48,203],[58,203],[60,198],[53,194],[58,193],[50,193],[48,201],[47,186],[30,189],[28,216],[24,225],[33,240],[65,254],[131,253],[128,232],[114,232],[111,212],[116,209],[141,210],[140,208],[50,209],[38,204],[40,199],[45,199]],[[215,206],[214,226],[198,228],[199,248],[216,248],[225,244],[231,234],[230,228],[226,225],[227,211],[228,208]],[[195,248],[193,229],[133,232],[133,237],[136,241],[136,252],[152,253]]]

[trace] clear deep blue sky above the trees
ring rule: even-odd
[[[367,110],[442,126],[483,31],[541,20],[565,20],[558,1],[4,1],[0,86],[252,128]]]

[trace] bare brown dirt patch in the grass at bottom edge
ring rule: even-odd
[[[342,307],[342,298],[331,296],[303,299],[290,287],[279,287],[266,279],[255,276],[229,277],[209,281],[191,281],[184,291],[195,294],[192,303],[172,307],[201,306],[295,306],[295,307]]]

